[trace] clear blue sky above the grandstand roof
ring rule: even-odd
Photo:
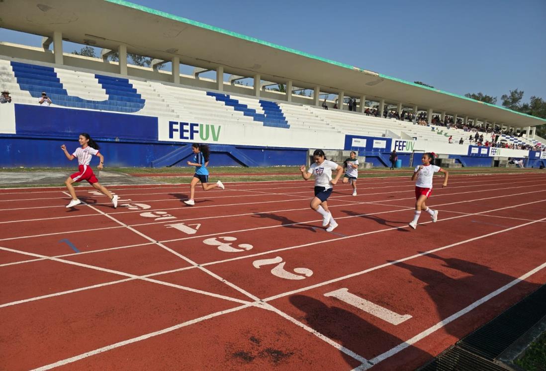
[[[133,0],[444,91],[546,99],[546,1]],[[363,5],[364,4],[364,5]],[[0,29],[0,40],[37,45]]]

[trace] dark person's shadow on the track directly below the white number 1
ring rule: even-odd
[[[367,360],[381,355],[383,352],[404,342],[399,337],[381,330],[357,314],[340,307],[329,307],[316,298],[306,295],[293,295],[290,296],[289,300],[294,307],[304,313],[296,317],[297,320],[304,322],[313,330],[361,357],[367,358]],[[358,312],[359,309],[355,308],[355,311]],[[363,314],[371,315],[364,312]],[[419,352],[416,357],[426,355],[430,358],[430,355],[426,352],[415,349]],[[340,352],[350,367],[360,366],[361,363],[352,356],[343,351]]]

